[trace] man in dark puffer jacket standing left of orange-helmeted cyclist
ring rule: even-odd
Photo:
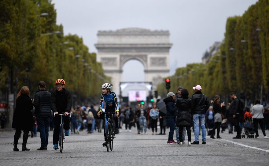
[[[49,141],[49,126],[50,126],[50,95],[51,93],[46,91],[46,83],[40,81],[38,83],[39,91],[35,93],[34,107],[36,121],[39,128],[41,147],[37,150],[47,150]]]

